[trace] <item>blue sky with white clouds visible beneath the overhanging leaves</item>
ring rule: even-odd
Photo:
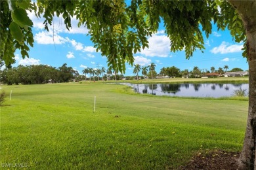
[[[68,31],[64,25],[64,20],[54,18],[53,25],[49,32],[44,30],[43,18],[36,18],[29,13],[33,21],[34,47],[30,48],[30,58],[22,59],[20,52],[15,52],[16,63],[12,65],[32,65],[44,64],[53,67],[60,67],[63,63],[73,67],[82,74],[86,67],[101,68],[107,67],[106,56],[101,56],[96,52],[93,42],[90,41],[86,27],[77,27],[77,20],[72,18],[72,27]],[[248,64],[242,57],[242,43],[236,43],[232,40],[228,30],[217,31],[213,25],[213,33],[209,39],[205,37],[205,50],[194,52],[189,60],[185,58],[184,51],[170,52],[170,41],[164,33],[163,26],[160,26],[158,33],[148,37],[149,48],[141,50],[134,54],[135,64],[142,66],[150,63],[156,64],[157,73],[162,67],[175,66],[181,70],[191,71],[194,66],[200,69],[210,70],[211,67],[218,69],[228,65],[229,69],[239,67],[247,70]],[[125,75],[133,74],[133,67],[127,64]]]

